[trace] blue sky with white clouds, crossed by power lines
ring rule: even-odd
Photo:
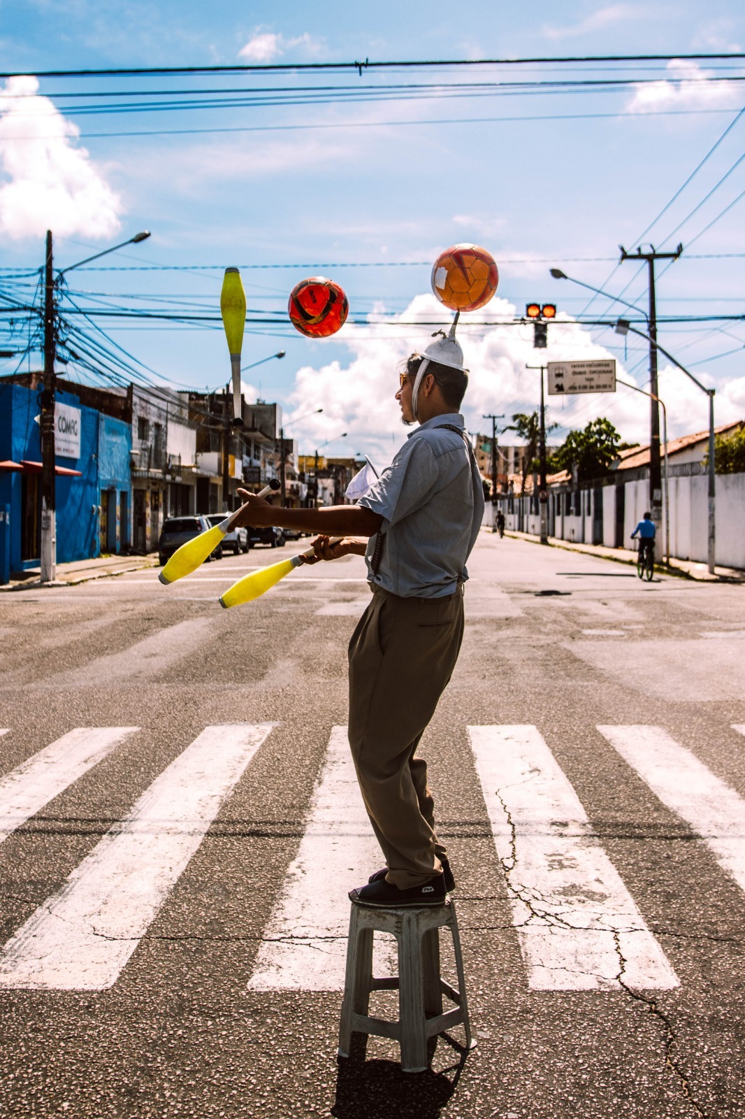
[[[744,25],[742,0],[706,6],[696,0],[568,0],[562,6],[537,2],[529,9],[485,0],[458,9],[437,0],[381,0],[346,6],[333,18],[328,4],[292,0],[272,7],[208,7],[191,0],[4,0],[0,69],[32,75],[57,68],[241,62],[737,53],[745,49]],[[707,75],[716,81],[704,81]],[[226,265],[243,266],[248,305],[260,314],[281,311],[298,280],[327,272],[347,291],[350,317],[358,325],[348,323],[323,342],[308,341],[289,326],[252,329],[244,342],[246,364],[281,347],[287,356],[248,370],[246,383],[264,398],[279,398],[290,421],[323,407],[322,415],[289,423],[289,433],[300,439],[303,450],[347,431],[347,439],[331,442],[330,450],[365,451],[383,460],[404,438],[393,401],[396,363],[426,344],[433,329],[397,326],[395,318],[407,323],[417,318],[445,320],[428,294],[427,262],[450,244],[481,243],[500,265],[498,297],[479,312],[479,321],[511,318],[532,299],[555,301],[567,317],[585,310],[590,293],[550,279],[551,264],[644,307],[644,274],[638,275],[633,264],[617,266],[619,243],[633,248],[640,236],[664,248],[678,241],[692,243],[664,274],[663,265],[659,267],[659,313],[745,312],[745,256],[724,255],[745,254],[745,201],[737,201],[745,190],[745,161],[737,164],[745,151],[745,115],[736,120],[745,105],[745,82],[736,81],[745,76],[743,60],[633,69],[607,64],[585,66],[582,73],[575,66],[570,74],[550,66],[519,72],[522,81],[544,82],[622,76],[639,84],[582,92],[474,87],[513,79],[516,73],[508,67],[465,74],[365,70],[361,76],[346,72],[3,82],[0,263],[19,273],[38,267],[48,225],[63,267],[149,228],[148,242],[101,265],[159,266],[157,271],[70,273],[69,286],[81,293],[76,300],[149,310],[188,304],[197,313],[217,308]],[[454,90],[454,82],[471,87]],[[403,84],[423,83],[451,85],[443,91],[446,96],[400,90]],[[392,91],[395,95],[384,93],[386,85],[398,87]],[[163,107],[168,98],[155,93],[183,90],[181,100],[194,103],[211,96],[204,93],[207,90],[299,86],[318,91],[315,103],[299,92],[284,94],[284,104],[192,104],[173,111]],[[328,94],[321,95],[321,86],[330,87]],[[76,96],[112,91],[140,93],[129,101],[142,107],[112,112],[115,98],[106,98],[109,107],[102,111],[104,98]],[[342,96],[360,100],[350,103]],[[242,98],[245,94],[235,94],[234,100]],[[119,98],[120,110],[126,100]],[[690,184],[647,232],[730,124]],[[151,134],[124,134],[144,132]],[[30,297],[32,289],[20,284],[32,284],[34,278],[10,271],[0,278],[6,292]],[[603,299],[590,308],[597,317],[617,310]],[[374,323],[359,325],[370,314]],[[219,326],[96,321],[158,377],[197,387],[227,379]],[[549,359],[612,354],[631,379],[645,386],[643,350],[630,344],[626,351],[612,330],[549,330]],[[472,370],[469,427],[484,427],[482,413],[531,410],[536,376],[525,365],[539,356],[531,347],[531,331],[470,326],[464,317],[460,333]],[[718,421],[745,415],[745,323],[671,323],[662,328],[660,340],[689,363],[691,372],[716,385]],[[17,336],[0,333],[1,346],[10,341],[19,345]],[[29,361],[38,367],[38,355],[30,355],[25,365]],[[0,365],[3,372],[12,368],[11,360]],[[660,391],[672,432],[706,426],[704,394],[664,364]],[[566,429],[607,414],[625,438],[643,439],[647,412],[641,396],[620,391],[613,399],[563,402],[551,417]]]

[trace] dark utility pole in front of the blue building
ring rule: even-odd
[[[44,270],[44,389],[41,392],[41,486],[40,506],[40,582],[54,580],[57,568],[57,524],[55,517],[55,355],[57,322],[55,307],[55,278],[53,272],[51,231],[47,229],[47,251]]]

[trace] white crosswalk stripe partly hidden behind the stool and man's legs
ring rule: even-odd
[[[381,863],[349,753],[334,726],[298,856],[263,934],[249,990],[343,990],[349,900]],[[376,940],[378,975],[395,974]]]

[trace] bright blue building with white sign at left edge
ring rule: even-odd
[[[0,380],[0,508],[10,507],[12,572],[39,566],[40,387],[38,374]],[[57,563],[126,551],[131,401],[59,380],[55,395]]]

